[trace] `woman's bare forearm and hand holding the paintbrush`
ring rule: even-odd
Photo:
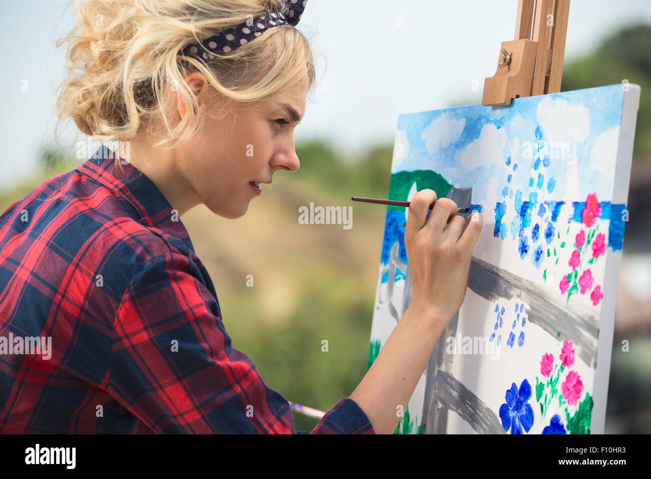
[[[434,204],[432,214],[428,208]],[[482,229],[480,214],[466,227],[456,203],[433,190],[415,194],[409,205],[405,246],[413,299],[380,354],[350,395],[376,433],[391,434],[427,366],[436,341],[461,307],[470,261]]]

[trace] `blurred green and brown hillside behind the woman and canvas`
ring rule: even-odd
[[[562,91],[624,79],[642,88],[634,162],[648,163],[651,27],[630,27],[590,55],[566,59]],[[464,104],[462,98],[450,106],[458,104]],[[277,173],[242,218],[226,220],[201,205],[182,222],[215,283],[234,347],[249,355],[266,384],[285,398],[327,411],[350,396],[367,371],[385,208],[350,197],[387,196],[393,138],[357,158],[317,140],[297,144],[296,152],[299,171]],[[0,209],[77,164],[46,151],[38,175],[2,192]],[[352,229],[298,224],[298,208],[310,202],[352,206]],[[637,231],[648,233],[648,226]],[[248,274],[253,287],[246,285]],[[630,330],[616,330],[606,432],[651,431],[651,340],[648,328],[642,332],[635,347],[644,353],[623,355],[619,342]],[[294,418],[296,429],[310,431],[317,423],[300,414]]]

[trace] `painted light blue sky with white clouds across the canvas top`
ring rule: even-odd
[[[396,144],[404,145],[405,158],[394,158],[392,172],[432,169],[454,186],[473,186],[473,203],[480,204],[503,201],[504,185],[510,198],[518,190],[527,197],[540,190],[539,181],[549,201],[585,201],[592,192],[609,199],[623,98],[618,84],[519,98],[505,107],[403,114]],[[536,165],[538,138],[549,156],[544,168],[540,160]],[[564,148],[550,149],[551,142]],[[499,188],[488,197],[492,178]]]

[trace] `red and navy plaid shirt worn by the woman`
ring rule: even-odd
[[[297,433],[171,205],[121,167],[103,145],[0,216],[0,433]],[[312,433],[374,430],[343,398]]]

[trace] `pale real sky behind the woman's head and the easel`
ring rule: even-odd
[[[33,173],[42,148],[53,145],[56,89],[64,78],[64,51],[54,43],[72,25],[67,4],[0,0],[0,188]],[[499,46],[514,35],[517,5],[517,0],[309,0],[299,30],[314,48],[318,84],[296,140],[316,136],[357,154],[376,141],[393,142],[400,113],[481,102]],[[651,23],[651,2],[573,0],[566,60],[638,22]],[[28,90],[21,91],[25,80]],[[64,145],[77,138],[83,136],[74,124],[61,128]]]

